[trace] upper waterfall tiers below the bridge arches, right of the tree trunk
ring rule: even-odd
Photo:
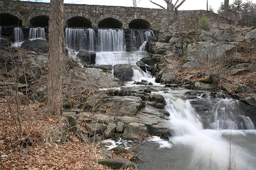
[[[97,37],[95,31],[91,28],[66,28],[67,48],[75,51],[75,55],[79,51],[95,51],[96,59],[94,65],[133,65],[133,80],[136,80],[137,77],[145,77],[146,79],[149,77],[139,67],[136,67],[136,62],[141,58],[147,57],[145,42],[148,36],[154,35],[152,31],[140,30],[136,31],[136,34],[135,31],[131,31],[134,38],[130,42],[126,42],[123,29],[98,29],[96,32]],[[131,47],[134,47],[134,51],[127,52],[126,44],[131,44]],[[143,48],[140,46],[143,46]],[[138,51],[139,48],[140,50]]]

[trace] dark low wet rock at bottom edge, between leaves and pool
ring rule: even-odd
[[[132,167],[134,169],[136,168],[136,165],[133,162],[124,158],[103,159],[98,160],[98,163],[110,167],[114,170],[127,169],[128,167]]]

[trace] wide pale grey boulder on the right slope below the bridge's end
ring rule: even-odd
[[[184,52],[184,61],[204,62],[207,59],[217,59],[233,48],[235,45],[224,43],[196,42],[188,44]]]

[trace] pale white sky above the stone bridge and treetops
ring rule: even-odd
[[[49,2],[50,0],[40,0],[41,2]],[[160,4],[166,8],[166,3],[163,0],[152,0],[155,3]],[[233,3],[234,0],[230,0]],[[243,0],[244,2],[246,0]],[[175,3],[176,0],[173,0]],[[208,6],[212,8],[217,13],[217,10],[224,0],[208,0]],[[76,3],[76,4],[87,4],[87,5],[105,5],[105,6],[133,6],[133,0],[64,0],[64,3]],[[253,0],[256,3],[256,0]],[[149,0],[137,0],[137,7],[141,8],[160,8],[149,2]],[[186,0],[178,10],[206,10],[207,0]]]

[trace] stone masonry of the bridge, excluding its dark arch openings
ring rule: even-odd
[[[157,28],[160,32],[177,30],[177,22],[172,11],[152,8],[133,8],[123,6],[95,6],[81,4],[64,4],[66,15],[64,20],[72,17],[84,17],[92,22],[92,28],[98,28],[101,20],[114,18],[122,23],[122,28],[129,28],[133,20],[142,19],[150,23],[151,28]],[[210,11],[179,11],[183,30],[198,29],[198,20],[205,15],[209,17],[212,25],[220,23],[231,24]],[[30,20],[38,16],[49,16],[49,3],[35,3],[26,1],[0,0],[0,14],[11,14],[22,20],[22,27],[31,26]]]

